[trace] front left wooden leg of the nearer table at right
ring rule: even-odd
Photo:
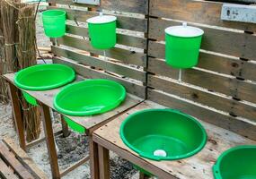
[[[100,179],[110,179],[110,151],[98,144]]]

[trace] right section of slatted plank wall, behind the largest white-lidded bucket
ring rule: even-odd
[[[148,98],[256,140],[256,24],[221,21],[223,3],[151,0]],[[164,62],[164,29],[205,31],[199,64],[179,72]]]

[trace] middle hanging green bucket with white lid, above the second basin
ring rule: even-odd
[[[87,20],[91,44],[96,49],[109,49],[117,43],[117,17],[99,15]]]

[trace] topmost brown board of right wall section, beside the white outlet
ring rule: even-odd
[[[222,4],[203,0],[154,0],[150,1],[149,14],[155,17],[191,21],[237,30],[256,31],[256,25],[253,23],[222,21],[220,19]]]

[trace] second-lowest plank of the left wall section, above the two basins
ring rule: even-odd
[[[102,70],[108,72],[115,72],[126,77],[135,79],[137,81],[146,82],[146,72],[137,70],[137,68],[128,67],[128,65],[118,64],[110,61],[106,61],[90,55],[84,55],[74,50],[65,49],[62,47],[51,47],[52,52],[57,56],[63,56],[79,62],[81,64],[93,66],[96,68],[102,68]]]

